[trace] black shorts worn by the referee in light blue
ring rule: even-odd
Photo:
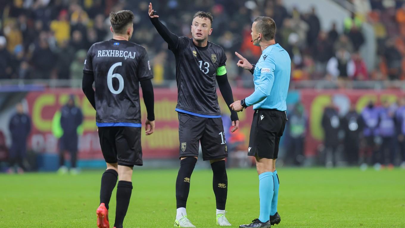
[[[286,122],[286,112],[274,109],[255,110],[247,155],[276,159]]]

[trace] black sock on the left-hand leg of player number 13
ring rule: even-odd
[[[180,161],[180,169],[176,180],[176,204],[177,208],[184,207],[187,203],[188,193],[190,192],[190,177],[196,166],[195,157],[186,157]]]

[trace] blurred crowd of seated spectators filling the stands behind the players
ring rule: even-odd
[[[339,0],[337,0],[339,1]],[[322,30],[315,8],[287,10],[282,0],[160,0],[153,8],[160,20],[179,36],[190,37],[192,15],[213,14],[210,41],[224,47],[227,72],[237,86],[251,86],[249,75],[236,67],[234,51],[251,62],[260,48],[251,40],[255,17],[272,17],[276,41],[292,58],[293,80],[396,80],[405,78],[405,3],[403,0],[351,0],[356,13]],[[151,27],[143,0],[0,0],[0,79],[80,79],[87,49],[111,38],[108,15],[129,9],[135,14],[131,41],[147,48],[154,83],[175,79],[174,58]],[[364,45],[363,24],[375,30],[377,62],[367,67],[359,50]],[[369,71],[368,69],[373,69]],[[245,83],[248,81],[249,83]]]

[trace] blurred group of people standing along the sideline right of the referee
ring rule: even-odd
[[[318,165],[374,166],[405,168],[405,97],[396,102],[383,99],[381,105],[370,100],[360,112],[356,105],[343,113],[341,106],[325,107],[321,118],[323,144],[318,146]],[[301,102],[294,105],[286,125],[287,165],[305,165],[305,137],[308,135],[308,116]],[[308,165],[308,163],[307,163]]]

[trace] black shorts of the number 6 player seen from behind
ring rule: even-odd
[[[120,166],[142,166],[141,127],[99,127],[104,160]]]

